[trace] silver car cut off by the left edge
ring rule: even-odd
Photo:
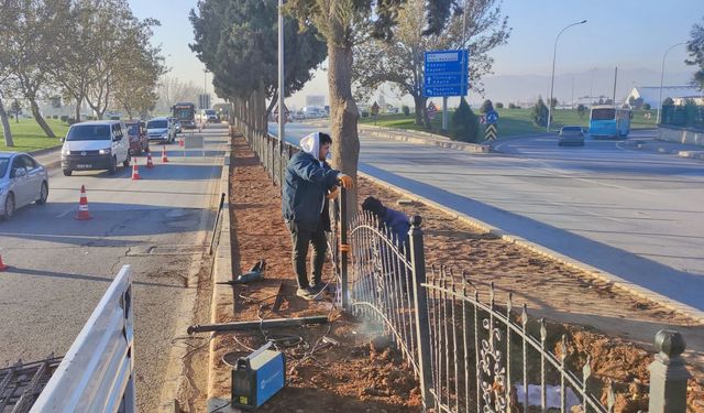
[[[47,197],[46,167],[26,153],[0,152],[0,217],[10,219],[16,208]]]

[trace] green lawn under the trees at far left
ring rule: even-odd
[[[40,149],[59,146],[59,138],[68,132],[68,123],[58,119],[46,119],[46,123],[52,128],[57,138],[46,138],[44,131],[34,119],[20,119],[16,123],[14,119],[10,120],[10,130],[12,131],[12,140],[14,146],[8,148],[4,144],[4,133],[0,127],[0,151],[12,152],[31,152]]]

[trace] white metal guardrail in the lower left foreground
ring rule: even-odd
[[[136,411],[132,279],[122,267],[31,413]]]

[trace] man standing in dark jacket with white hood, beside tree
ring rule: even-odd
[[[327,133],[311,133],[300,140],[300,151],[286,166],[282,200],[286,226],[290,231],[297,295],[314,300],[324,286],[322,264],[326,259],[326,231],[330,231],[328,198],[338,184],[351,188],[350,176],[328,165],[326,159],[332,139]],[[308,279],[306,258],[312,244],[312,283]]]

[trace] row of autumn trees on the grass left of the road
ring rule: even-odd
[[[0,13],[0,118],[12,134],[2,99],[21,96],[47,137],[55,137],[37,101],[61,97],[86,102],[102,119],[108,108],[130,117],[156,102],[166,72],[152,46],[154,19],[134,17],[127,0],[2,0]]]

